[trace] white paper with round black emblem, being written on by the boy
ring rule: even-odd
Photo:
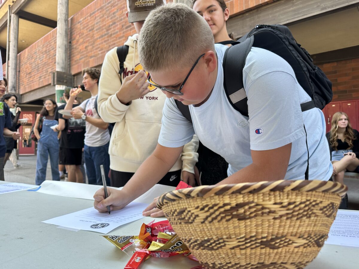
[[[64,216],[42,221],[67,228],[108,233],[123,224],[143,218],[142,211],[148,204],[132,202],[120,210],[100,213],[90,207]]]

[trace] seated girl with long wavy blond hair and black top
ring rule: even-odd
[[[330,132],[326,134],[334,180],[343,183],[344,172],[353,172],[359,166],[359,132],[350,125],[348,115],[336,112],[332,118]]]

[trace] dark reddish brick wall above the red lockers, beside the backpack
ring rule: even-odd
[[[333,101],[359,98],[359,58],[318,66],[333,83]]]

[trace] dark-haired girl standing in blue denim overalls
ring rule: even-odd
[[[52,180],[60,180],[59,166],[59,133],[54,132],[50,127],[58,124],[55,118],[56,102],[53,99],[46,99],[44,107],[36,118],[34,134],[37,142],[36,162],[36,185],[40,185],[46,179],[46,167],[50,155]],[[41,133],[38,126],[42,122]]]

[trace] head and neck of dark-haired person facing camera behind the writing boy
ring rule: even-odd
[[[234,40],[233,34],[227,32],[229,9],[224,0],[194,0],[191,7],[206,20],[215,43],[229,44]]]

